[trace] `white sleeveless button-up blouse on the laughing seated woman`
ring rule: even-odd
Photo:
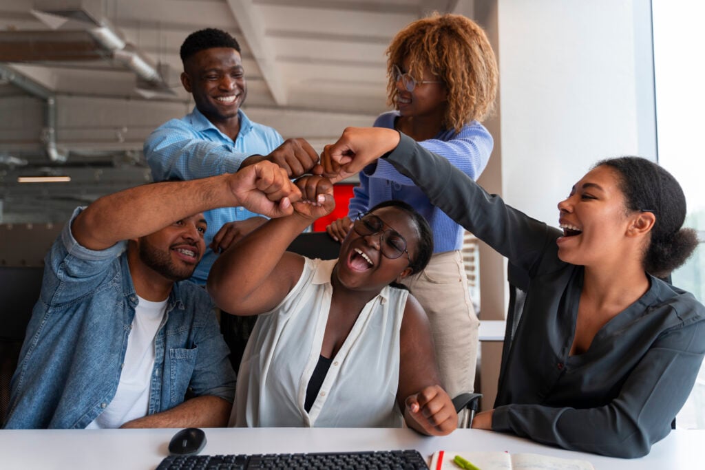
[[[323,345],[336,262],[306,259],[301,278],[281,304],[259,315],[240,363],[231,426],[403,426],[396,393],[408,292],[394,287],[384,287],[364,306],[311,411],[304,409]]]

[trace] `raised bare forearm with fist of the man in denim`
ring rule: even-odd
[[[291,214],[300,192],[274,163],[266,161],[202,180],[143,185],[97,199],[75,218],[72,233],[88,249],[156,232],[170,223],[218,207],[245,206],[270,217]]]

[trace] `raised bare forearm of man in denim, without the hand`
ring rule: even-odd
[[[84,247],[104,249],[207,209],[238,206],[227,178],[154,183],[101,197],[75,219],[74,237]]]

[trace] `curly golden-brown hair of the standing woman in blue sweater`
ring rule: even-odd
[[[409,59],[408,73],[419,77],[425,67],[446,85],[448,110],[443,127],[460,132],[471,120],[483,120],[494,111],[498,70],[482,27],[462,15],[433,13],[398,32],[386,51],[387,104],[396,104],[392,67]]]

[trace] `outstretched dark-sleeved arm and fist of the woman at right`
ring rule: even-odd
[[[546,247],[555,247],[558,230],[506,205],[447,159],[396,130],[347,128],[326,147],[321,163],[326,175],[346,177],[381,156],[411,178],[431,204],[517,266],[528,271]]]

